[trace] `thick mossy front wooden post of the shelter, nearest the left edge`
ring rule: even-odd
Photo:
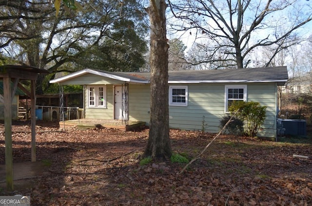
[[[3,77],[4,133],[5,133],[5,179],[6,189],[13,191],[13,150],[12,150],[12,94],[11,77]]]

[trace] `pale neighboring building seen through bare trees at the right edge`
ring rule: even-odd
[[[282,86],[282,93],[311,93],[312,74],[306,74],[301,77],[292,77]]]

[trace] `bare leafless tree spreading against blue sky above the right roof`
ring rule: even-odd
[[[312,19],[309,1],[301,0],[169,0],[169,5],[181,20],[171,22],[173,29],[209,39],[199,42],[206,53],[201,61],[214,69],[246,68],[249,54],[263,46],[274,49],[273,58],[300,42],[298,29]]]

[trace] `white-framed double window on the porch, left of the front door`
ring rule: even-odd
[[[88,106],[106,107],[106,86],[87,86]]]

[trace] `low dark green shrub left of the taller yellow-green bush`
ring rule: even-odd
[[[225,116],[220,120],[220,127],[223,128],[224,125],[231,119],[231,116]],[[232,121],[225,128],[225,133],[230,135],[240,136],[244,133],[244,122],[241,119],[232,118]]]

